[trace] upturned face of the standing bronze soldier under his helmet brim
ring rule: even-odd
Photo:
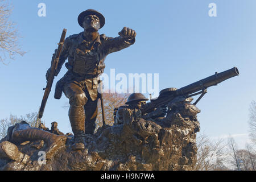
[[[100,19],[96,15],[87,15],[83,22],[86,31],[98,31],[101,27]]]

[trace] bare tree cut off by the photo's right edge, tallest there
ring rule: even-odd
[[[256,102],[252,101],[249,109],[249,137],[251,142],[256,144]]]

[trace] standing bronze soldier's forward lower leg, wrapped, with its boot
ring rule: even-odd
[[[72,150],[83,150],[85,148],[84,106],[71,105],[69,107],[68,116],[75,138]]]

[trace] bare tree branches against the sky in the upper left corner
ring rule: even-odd
[[[26,53],[21,51],[18,45],[20,36],[15,23],[10,20],[11,13],[12,8],[9,3],[0,0],[0,61],[3,64],[6,64],[6,55],[9,55],[10,59],[15,59],[15,55],[23,56]]]

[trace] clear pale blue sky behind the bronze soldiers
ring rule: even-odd
[[[46,17],[38,16],[38,4],[46,4]],[[209,3],[216,3],[217,17],[209,17]],[[208,89],[197,104],[201,131],[209,137],[234,135],[240,147],[248,142],[249,105],[256,100],[256,1],[18,1],[13,0],[11,20],[16,22],[23,57],[0,65],[0,116],[25,115],[39,110],[45,74],[61,31],[67,36],[82,28],[77,16],[86,9],[100,11],[106,19],[99,31],[118,36],[124,26],[137,32],[133,46],[110,54],[105,73],[159,73],[159,90],[181,88],[201,78],[237,67],[240,76]],[[7,60],[8,61],[8,60]],[[67,71],[61,69],[55,83]],[[51,92],[43,115],[49,127],[57,121],[71,132],[68,110]]]

